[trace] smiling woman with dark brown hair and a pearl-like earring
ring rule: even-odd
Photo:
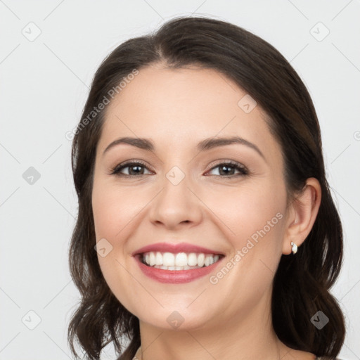
[[[314,105],[273,46],[175,18],[105,58],[72,148],[89,359],[336,359],[342,263]],[[129,345],[124,341],[129,340]]]

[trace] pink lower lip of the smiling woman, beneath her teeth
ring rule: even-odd
[[[213,271],[221,262],[222,258],[212,265],[189,270],[162,270],[152,266],[146,266],[141,262],[139,255],[135,256],[135,260],[139,264],[143,274],[149,278],[159,281],[160,283],[180,284],[190,283],[197,278],[210,274],[210,272]]]

